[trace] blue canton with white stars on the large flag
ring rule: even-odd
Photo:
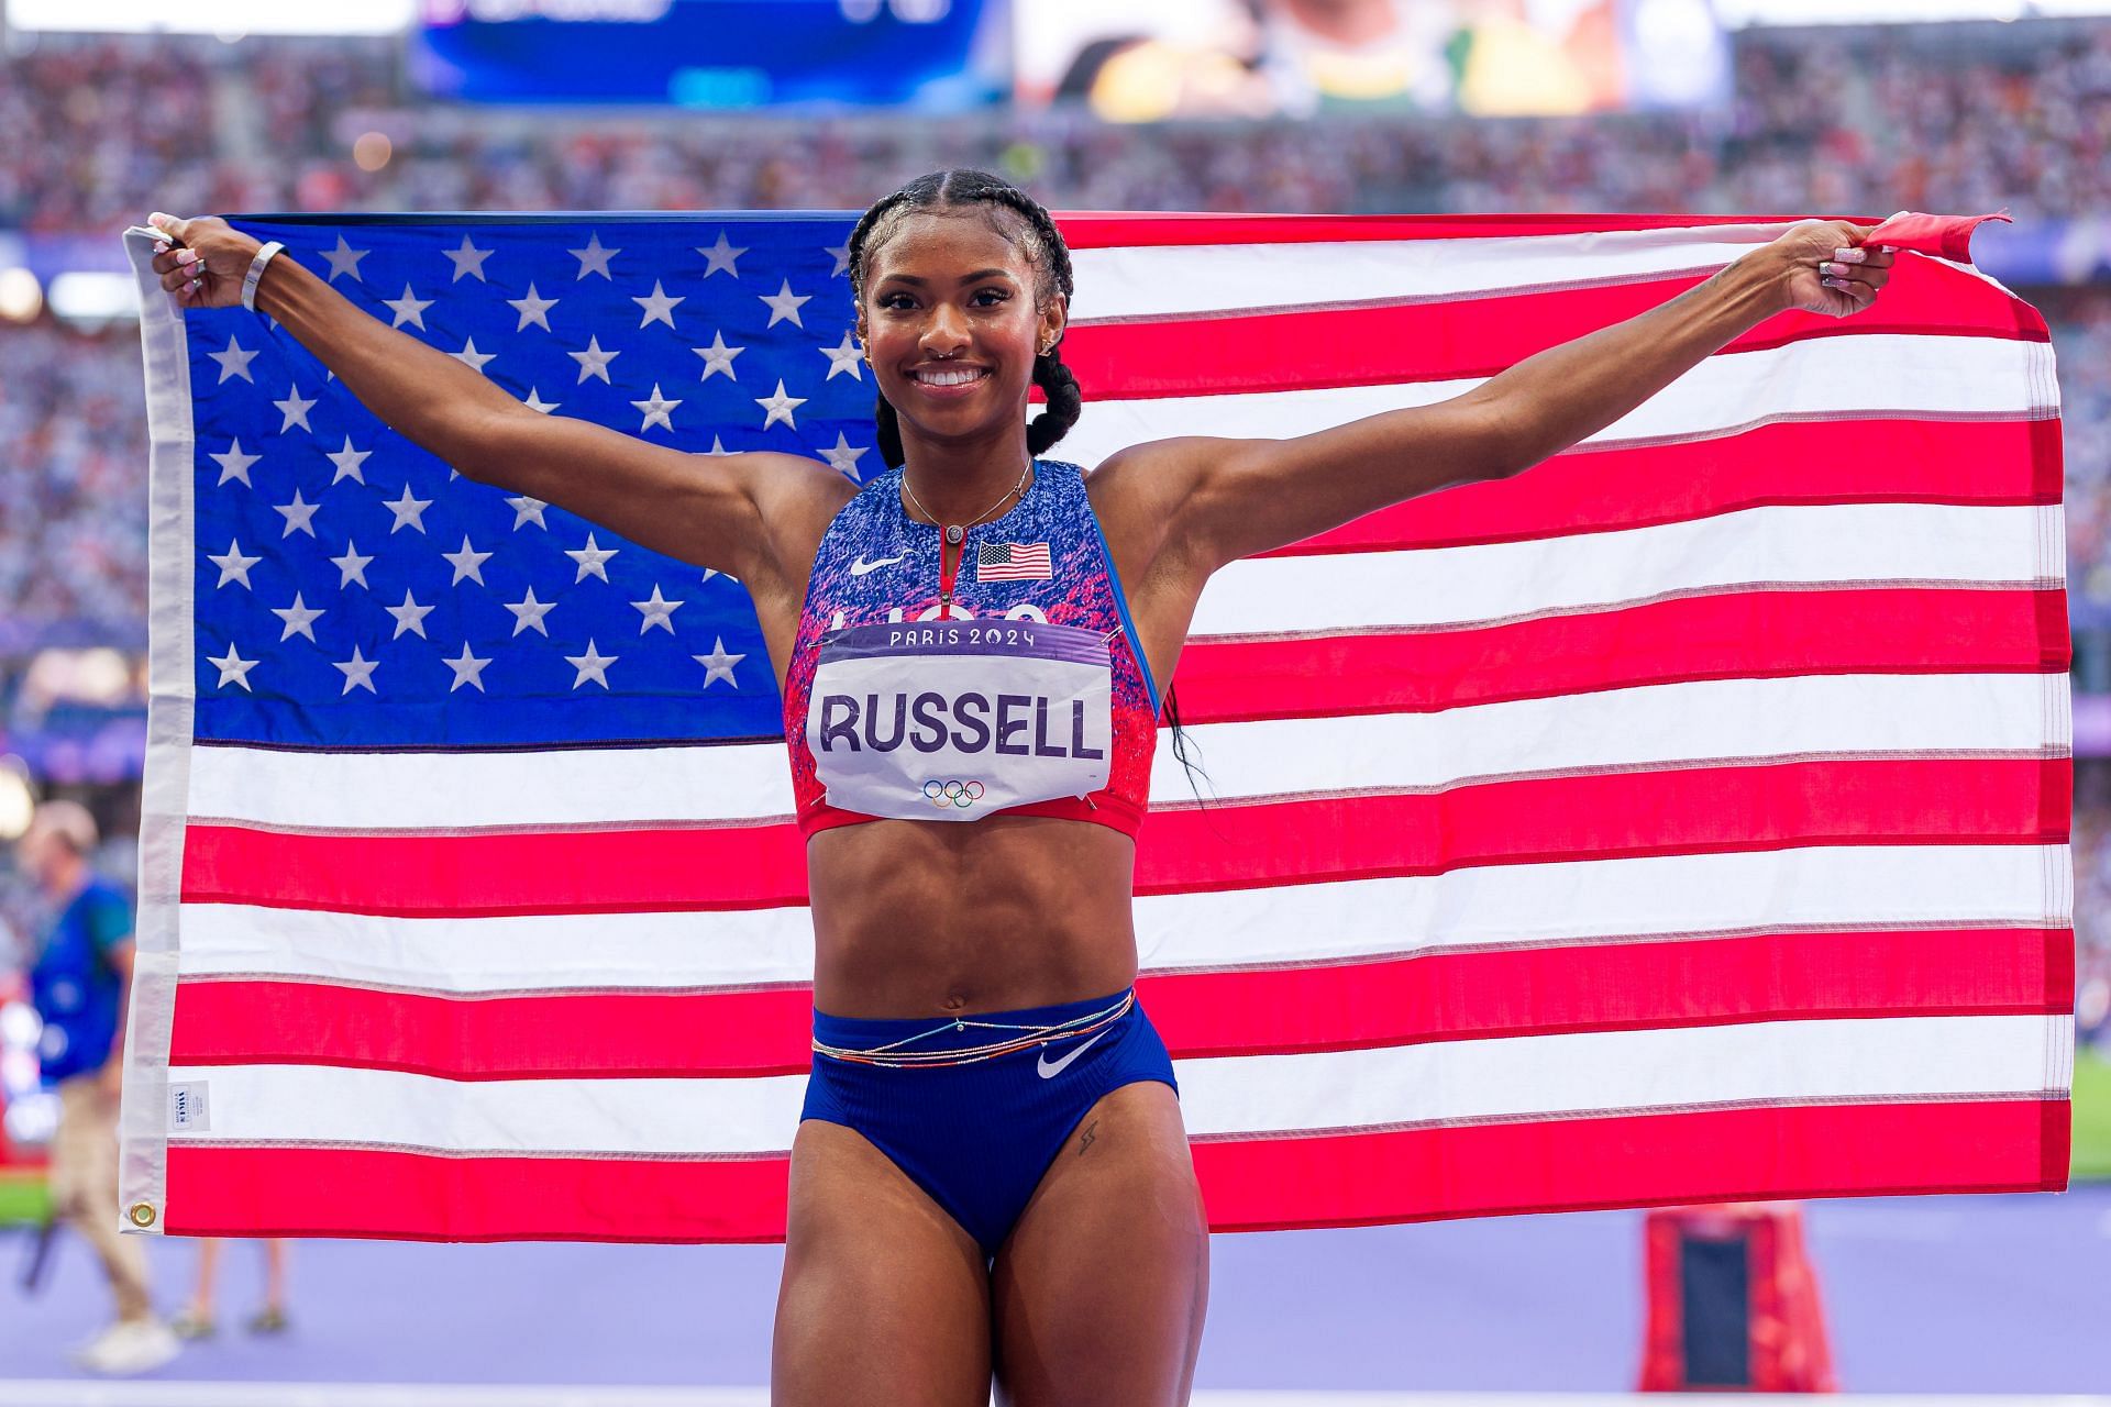
[[[880,473],[851,215],[234,217],[545,413]],[[747,593],[456,477],[291,333],[188,314],[196,738],[564,747],[781,736]]]

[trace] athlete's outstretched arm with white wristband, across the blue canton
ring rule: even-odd
[[[167,253],[165,289],[186,308],[241,304],[260,243],[217,217],[154,215]],[[205,274],[198,287],[198,266]],[[819,540],[851,485],[819,460],[790,454],[697,456],[515,401],[454,356],[386,327],[298,259],[274,257],[255,306],[329,367],[388,428],[462,477],[570,508],[657,553],[766,582],[775,540]],[[809,521],[813,519],[813,521]],[[785,553],[787,557],[798,555]]]

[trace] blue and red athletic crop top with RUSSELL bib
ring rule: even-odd
[[[1159,692],[1085,473],[1034,460],[1024,498],[944,553],[944,582],[939,534],[895,468],[821,536],[785,675],[800,831],[1005,812],[1134,835]]]

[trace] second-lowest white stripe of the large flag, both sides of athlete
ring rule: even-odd
[[[1148,972],[1442,949],[1758,930],[2065,926],[2067,846],[1811,846],[1490,865],[1402,880],[1142,894]],[[2062,890],[2065,892],[2065,890]],[[2050,911],[2048,911],[2050,907]],[[804,907],[581,918],[382,918],[184,905],[184,977],[296,977],[424,991],[773,987],[813,981]]]

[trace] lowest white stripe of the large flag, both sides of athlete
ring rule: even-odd
[[[1178,1061],[1195,1137],[1729,1103],[2037,1095],[2052,1023],[1881,1017],[1581,1032]],[[439,1080],[338,1065],[201,1065],[211,1131],[169,1141],[317,1141],[496,1154],[758,1154],[792,1145],[806,1076]]]

